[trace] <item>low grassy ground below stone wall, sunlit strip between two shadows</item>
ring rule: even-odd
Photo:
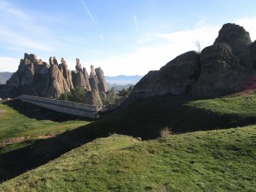
[[[15,177],[78,147],[79,141],[70,142],[65,136],[89,123],[25,102],[0,104],[0,180]]]

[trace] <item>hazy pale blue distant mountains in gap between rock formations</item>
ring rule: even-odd
[[[132,76],[118,75],[114,77],[105,76],[105,79],[108,84],[119,84],[119,85],[137,84],[137,82],[142,78],[143,76],[141,75],[132,75]]]

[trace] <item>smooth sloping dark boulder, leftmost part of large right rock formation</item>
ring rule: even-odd
[[[151,71],[139,81],[131,96],[165,96],[181,95],[189,92],[198,79],[201,66],[199,54],[189,51],[177,56],[161,67],[159,71]]]

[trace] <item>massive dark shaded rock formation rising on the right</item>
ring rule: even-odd
[[[126,103],[149,96],[223,96],[246,90],[256,67],[256,41],[242,26],[225,24],[214,44],[189,51],[151,71],[139,81]],[[251,82],[252,83],[252,82]],[[256,83],[256,82],[253,82]]]

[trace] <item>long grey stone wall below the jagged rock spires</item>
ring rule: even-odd
[[[91,119],[97,119],[97,113],[102,111],[101,107],[93,105],[86,105],[77,102],[65,102],[38,96],[22,95],[18,96],[16,99],[20,99],[22,102],[32,103],[43,108],[48,108],[56,112],[73,114]]]

